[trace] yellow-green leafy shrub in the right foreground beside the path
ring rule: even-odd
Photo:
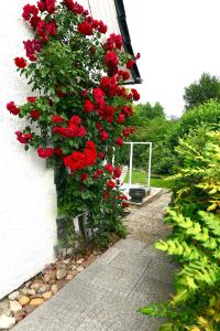
[[[177,147],[184,163],[165,217],[173,233],[155,244],[180,265],[176,292],[167,302],[142,309],[168,318],[160,330],[220,329],[220,132],[206,130],[197,145],[195,136],[190,134]]]

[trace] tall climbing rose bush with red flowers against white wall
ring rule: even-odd
[[[73,0],[40,0],[24,6],[22,17],[34,38],[23,41],[26,57],[14,63],[36,96],[7,104],[26,119],[16,139],[54,168],[62,216],[89,210],[91,227],[119,232],[127,204],[111,160],[113,147],[134,131],[132,104],[140,96],[123,86],[130,72],[121,68],[136,58],[124,53],[121,35],[103,42],[107,25]]]

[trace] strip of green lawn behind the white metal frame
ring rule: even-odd
[[[146,179],[147,173],[145,171],[141,170],[133,170],[132,172],[132,184],[139,183],[142,185],[147,184]],[[124,179],[124,183],[129,182],[129,172],[127,173],[127,177]],[[168,179],[166,175],[158,175],[158,177],[152,177],[151,178],[151,186],[156,188],[165,188],[165,189],[172,189],[174,186],[174,180]]]

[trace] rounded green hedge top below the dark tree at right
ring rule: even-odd
[[[220,129],[220,103],[209,100],[204,105],[193,108],[185,113],[182,118],[173,127],[167,136],[167,141],[172,150],[178,145],[178,139],[183,138],[190,130],[208,126],[211,130]]]

